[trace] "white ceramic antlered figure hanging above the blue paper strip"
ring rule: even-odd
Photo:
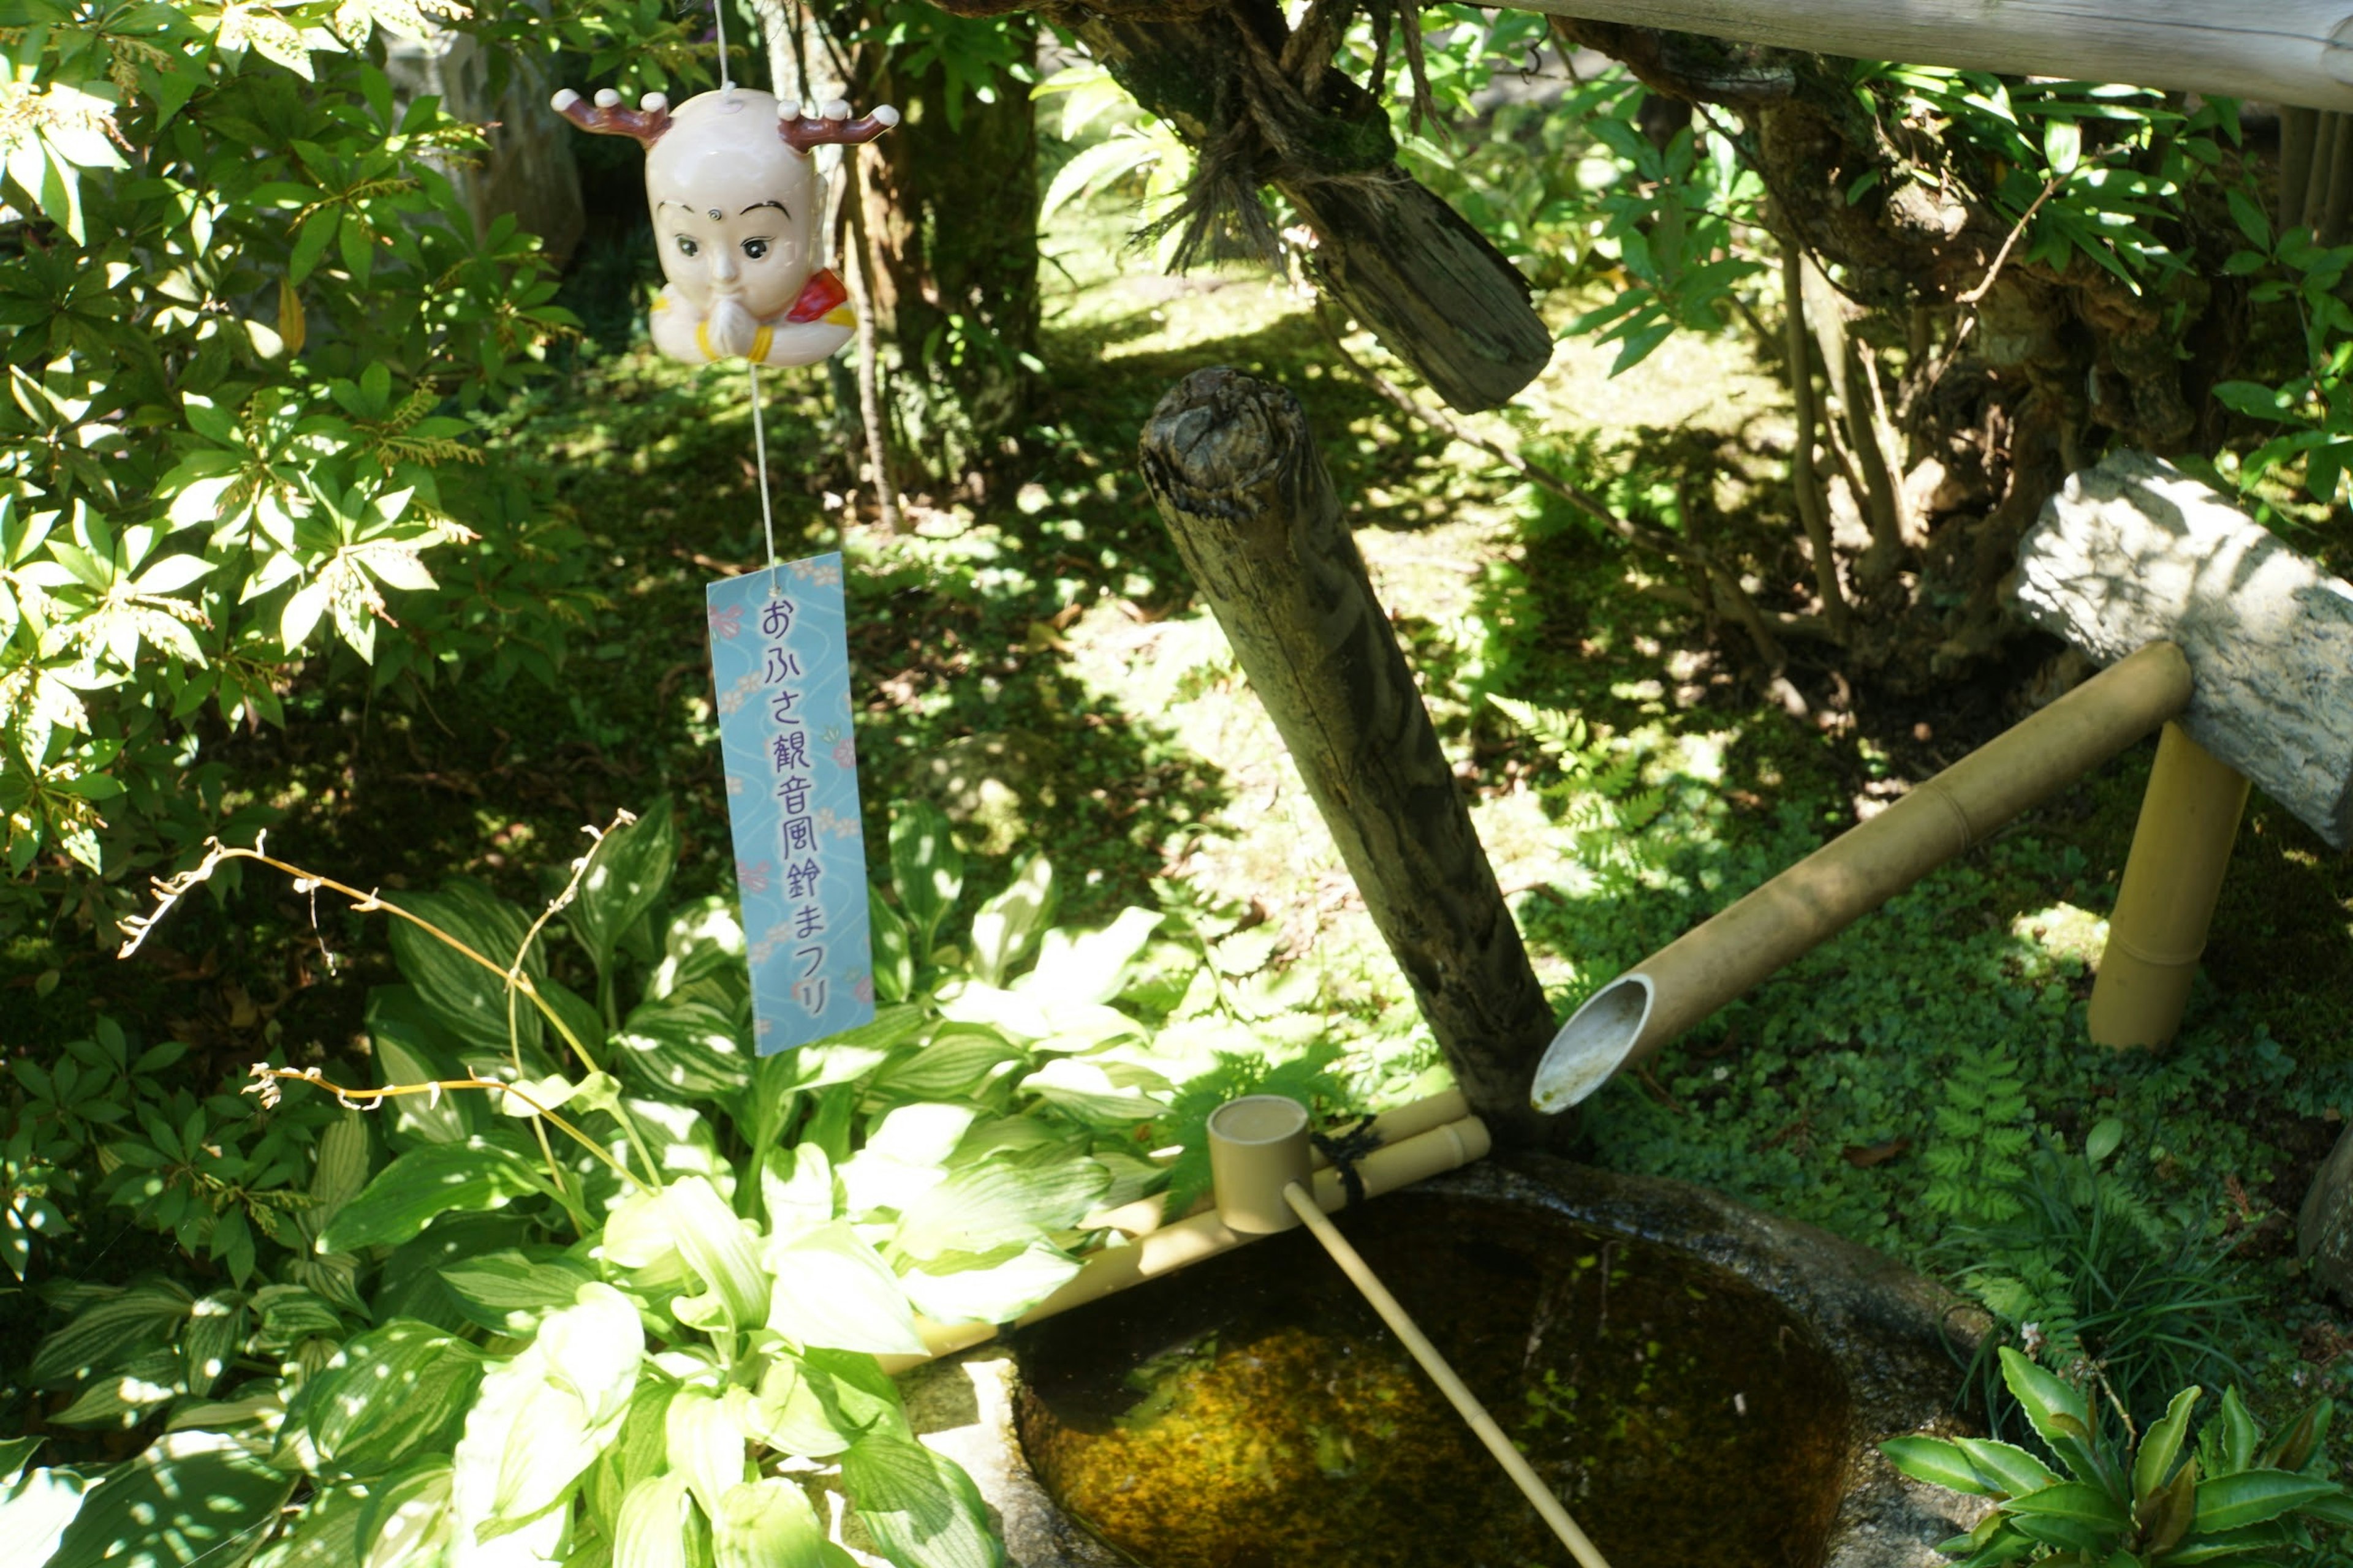
[[[899,125],[896,108],[852,120],[842,101],[802,113],[751,87],[722,87],[673,113],[659,92],[621,108],[609,87],[593,103],[567,87],[555,113],[645,143],[645,197],[668,277],[654,301],[654,348],[687,364],[814,364],[849,341],[847,289],[816,266],[824,181],[809,150],[873,141]]]

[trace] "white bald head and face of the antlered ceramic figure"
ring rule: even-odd
[[[694,306],[734,299],[769,320],[814,270],[816,176],[776,136],[776,99],[736,87],[687,99],[647,153],[661,275]]]

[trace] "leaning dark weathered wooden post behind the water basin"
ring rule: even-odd
[[[1193,371],[1153,409],[1141,461],[1471,1110],[1499,1143],[1529,1143],[1541,1119],[1527,1086],[1553,1009],[1306,414],[1278,386]]]

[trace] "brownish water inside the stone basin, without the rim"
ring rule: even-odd
[[[1614,1568],[1812,1568],[1849,1401],[1739,1276],[1558,1215],[1405,1192],[1344,1215]],[[1569,1563],[1304,1232],[1019,1338],[1054,1500],[1148,1568]]]

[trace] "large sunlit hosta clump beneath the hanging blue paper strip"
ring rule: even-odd
[[[904,813],[875,1023],[755,1058],[729,905],[666,898],[666,806],[536,919],[226,858],[388,914],[405,985],[369,999],[369,1074],[254,1067],[264,1107],[341,1114],[247,1276],[52,1291],[49,1425],[148,1441],[0,1448],[7,1561],[838,1568],[816,1486],[901,1568],[1000,1559],[875,1356],[922,1349],[918,1312],[1019,1314],[1165,1180],[1113,1006],[1155,917],[1056,931],[1035,860],[944,945],[960,858]]]

